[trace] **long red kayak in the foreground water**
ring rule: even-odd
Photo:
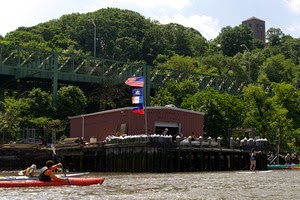
[[[0,181],[0,187],[45,187],[45,186],[64,186],[64,185],[101,185],[104,178],[68,178],[68,181],[39,181],[39,180],[18,180]]]

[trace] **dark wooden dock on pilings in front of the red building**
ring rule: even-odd
[[[267,145],[262,141],[174,141],[170,137],[113,137],[93,144],[56,146],[56,153],[69,171],[91,172],[196,172],[246,170],[251,148],[262,150],[257,169],[267,169]],[[241,146],[242,145],[242,146]]]

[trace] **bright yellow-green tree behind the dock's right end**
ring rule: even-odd
[[[288,116],[282,102],[278,101],[282,86],[275,86],[275,95],[270,97],[264,91],[263,86],[250,85],[243,90],[244,100],[246,102],[246,118],[244,125],[255,127],[256,136],[267,138],[270,146],[275,146],[276,141],[280,141],[282,151],[289,149],[292,138],[292,119]],[[279,93],[278,93],[279,92]]]

